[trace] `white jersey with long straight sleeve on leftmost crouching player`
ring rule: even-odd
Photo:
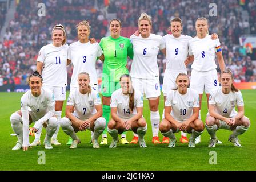
[[[29,131],[29,115],[35,122],[44,117],[49,111],[52,113],[55,111],[53,93],[45,88],[41,88],[41,90],[38,97],[33,96],[31,90],[28,90],[21,97],[23,131]],[[23,146],[29,146],[29,132],[23,132]]]

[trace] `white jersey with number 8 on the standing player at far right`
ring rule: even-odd
[[[192,69],[206,72],[217,68],[215,64],[215,49],[220,46],[219,39],[211,40],[211,35],[199,39],[195,37],[189,41],[189,55],[194,55]]]

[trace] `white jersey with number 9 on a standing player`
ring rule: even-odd
[[[186,73],[186,65],[184,61],[189,55],[189,40],[191,36],[181,35],[175,38],[173,35],[163,36],[166,46],[166,69],[170,72]]]

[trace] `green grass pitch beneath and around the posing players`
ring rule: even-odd
[[[217,144],[216,148],[207,147],[209,134],[205,130],[202,134],[202,142],[195,148],[187,147],[187,144],[179,143],[180,133],[177,134],[175,148],[168,148],[167,144],[154,146],[151,143],[152,131],[150,124],[150,111],[148,101],[145,100],[143,115],[148,123],[148,130],[145,136],[147,148],[139,148],[138,144],[118,144],[117,148],[109,148],[111,137],[109,136],[106,146],[93,149],[90,142],[90,131],[78,133],[81,144],[75,150],[66,146],[68,136],[59,130],[58,140],[61,146],[53,146],[53,150],[45,150],[44,146],[36,146],[29,151],[12,151],[17,137],[11,137],[13,133],[10,125],[10,115],[19,110],[19,100],[23,93],[0,93],[0,170],[255,170],[256,169],[256,125],[255,125],[255,104],[256,91],[242,90],[245,101],[245,115],[251,121],[250,129],[239,136],[243,147],[234,147],[227,141],[231,131],[219,130],[218,139],[223,144]],[[66,101],[65,101],[66,106]],[[65,115],[65,106],[62,116]],[[160,115],[163,111],[163,96],[159,104]],[[206,97],[203,96],[202,119],[206,117]],[[33,125],[31,125],[33,126]],[[159,134],[162,140],[162,135]],[[189,135],[188,135],[189,136]],[[41,135],[41,143],[45,137],[45,129]],[[120,136],[119,136],[120,138]],[[133,134],[127,133],[127,139],[131,140]],[[33,142],[34,137],[30,137]],[[101,136],[99,137],[99,140]],[[38,164],[38,152],[45,151],[45,164]],[[217,164],[210,164],[211,155],[217,154]]]

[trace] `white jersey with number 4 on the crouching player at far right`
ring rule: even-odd
[[[223,117],[233,118],[235,115],[237,115],[235,105],[244,105],[242,93],[239,90],[238,92],[230,91],[229,94],[224,94],[221,89],[222,87],[219,86],[217,89],[211,91],[209,104],[215,105],[215,111],[217,111],[217,113]]]

